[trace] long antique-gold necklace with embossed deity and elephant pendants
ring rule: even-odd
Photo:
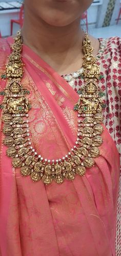
[[[3,133],[4,145],[8,147],[7,156],[12,158],[12,166],[21,168],[23,176],[30,175],[35,181],[42,180],[46,185],[53,180],[62,184],[64,180],[73,181],[75,174],[84,175],[86,168],[94,166],[94,158],[98,157],[99,146],[103,139],[101,123],[103,116],[103,92],[100,91],[97,81],[100,78],[96,58],[93,57],[93,47],[89,36],[85,34],[83,42],[84,52],[84,86],[78,91],[79,100],[74,106],[78,111],[78,133],[75,146],[62,159],[47,160],[37,155],[30,146],[28,112],[31,108],[26,94],[29,93],[21,83],[24,74],[22,62],[23,39],[18,31],[11,46],[12,53],[2,78],[8,78],[7,86],[1,95],[4,95]]]

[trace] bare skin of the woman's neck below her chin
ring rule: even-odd
[[[83,63],[85,33],[80,19],[67,26],[47,24],[25,6],[24,26],[21,30],[24,44],[44,59],[59,74],[78,70]]]

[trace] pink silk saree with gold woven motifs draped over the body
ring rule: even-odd
[[[11,42],[1,43],[1,73]],[[23,85],[31,92],[32,146],[44,158],[62,158],[76,140],[73,106],[78,94],[27,46],[23,57]],[[2,90],[5,82],[0,85]],[[107,129],[95,166],[62,185],[21,177],[6,156],[3,137],[1,133],[1,255],[115,256],[119,155]]]

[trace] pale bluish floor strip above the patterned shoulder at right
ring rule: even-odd
[[[89,34],[96,38],[108,38],[116,36],[121,38],[121,23],[109,27],[89,28]]]

